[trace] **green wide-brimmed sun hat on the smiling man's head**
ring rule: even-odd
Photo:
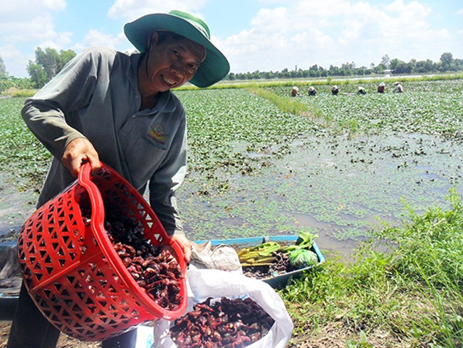
[[[148,37],[155,30],[172,31],[206,48],[206,59],[189,80],[193,85],[209,87],[229,73],[229,62],[210,41],[209,26],[202,19],[187,12],[170,11],[169,14],[147,14],[124,26],[125,36],[140,52],[147,50]]]

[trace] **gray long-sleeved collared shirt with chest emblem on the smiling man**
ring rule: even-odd
[[[140,111],[137,67],[141,57],[90,48],[26,100],[22,116],[53,154],[38,206],[75,180],[61,165],[61,157],[69,142],[86,137],[100,161],[140,193],[148,184],[150,205],[167,233],[182,233],[175,190],[187,167],[184,108],[167,91],[161,93],[155,108]]]

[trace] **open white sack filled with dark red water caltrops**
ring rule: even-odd
[[[284,348],[291,338],[283,300],[261,280],[190,265],[187,287],[187,310],[155,322],[152,348]]]

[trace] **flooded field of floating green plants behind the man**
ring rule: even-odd
[[[319,86],[316,97],[297,98],[307,115],[242,88],[177,92],[189,122],[189,172],[177,194],[189,238],[303,229],[322,250],[348,255],[371,228],[407,221],[409,209],[445,208],[449,190],[463,188],[463,82],[404,86],[378,95],[372,83],[359,96],[345,85],[336,97]],[[284,87],[269,90],[287,97]],[[32,213],[49,161],[22,124],[23,101],[10,99],[0,105],[11,116],[0,144],[4,241]]]

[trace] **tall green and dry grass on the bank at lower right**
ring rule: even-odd
[[[345,347],[462,347],[463,204],[454,191],[447,199],[448,211],[409,209],[410,223],[384,223],[352,263],[328,258],[281,290],[296,328],[290,347],[320,341],[326,327]]]

